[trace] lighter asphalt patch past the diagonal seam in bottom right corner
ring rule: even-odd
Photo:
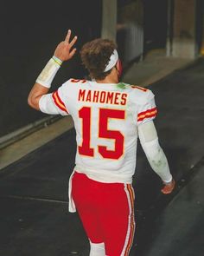
[[[193,179],[153,222],[150,244],[139,256],[201,256],[204,252],[204,158]]]

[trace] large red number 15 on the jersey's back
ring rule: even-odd
[[[124,110],[99,108],[99,138],[115,141],[114,150],[108,149],[105,146],[98,146],[99,154],[103,158],[119,159],[124,154],[124,135],[118,130],[108,129],[109,119],[124,120],[124,115]],[[94,156],[94,148],[91,148],[90,145],[92,108],[81,108],[79,116],[82,119],[82,145],[78,147],[79,154]]]

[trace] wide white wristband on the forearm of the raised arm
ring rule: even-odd
[[[40,83],[46,88],[51,87],[51,83],[54,80],[54,76],[57,74],[58,69],[61,68],[61,60],[53,56],[47,63],[41,74],[37,77],[36,82]]]

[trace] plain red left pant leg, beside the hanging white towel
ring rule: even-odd
[[[98,211],[93,197],[92,181],[84,174],[74,174],[72,181],[73,201],[80,215],[86,235],[92,243],[103,242],[99,225]]]

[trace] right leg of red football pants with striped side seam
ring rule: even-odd
[[[121,184],[111,189],[100,217],[106,255],[129,255],[135,232],[134,191],[131,185]]]

